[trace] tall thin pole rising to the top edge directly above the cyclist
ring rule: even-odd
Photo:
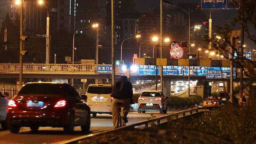
[[[115,53],[114,53],[114,0],[111,0],[111,62],[112,62],[112,73],[111,73],[111,78],[112,78],[112,85],[115,84]]]

